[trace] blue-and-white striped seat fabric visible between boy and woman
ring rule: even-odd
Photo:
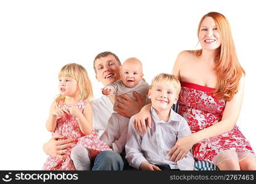
[[[178,113],[178,104],[172,105],[172,109],[174,110],[174,112]],[[214,164],[208,161],[198,160],[194,163],[194,170],[195,171],[217,171],[219,169]]]

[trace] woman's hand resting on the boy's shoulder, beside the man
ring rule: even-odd
[[[146,134],[146,125],[151,128],[151,115],[150,115],[151,104],[145,105],[137,115],[135,115],[132,123],[134,128],[142,135]]]

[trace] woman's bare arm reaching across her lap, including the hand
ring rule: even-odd
[[[194,144],[200,142],[202,139],[215,137],[226,132],[231,131],[238,120],[241,111],[242,99],[244,96],[244,77],[241,77],[239,82],[238,93],[236,93],[231,101],[226,102],[225,110],[223,112],[222,121],[209,128],[202,129],[190,136],[179,139],[175,146],[169,151],[170,160],[177,161],[177,158],[183,153],[187,153]],[[182,159],[182,157],[180,157]]]

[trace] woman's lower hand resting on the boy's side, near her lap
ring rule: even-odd
[[[175,146],[167,153],[170,156],[170,161],[177,163],[178,160],[184,158],[193,145],[194,139],[191,135],[178,139]]]

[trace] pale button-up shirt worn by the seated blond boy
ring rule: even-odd
[[[156,111],[151,107],[151,127],[146,128],[142,136],[134,128],[130,118],[126,142],[126,159],[130,166],[139,169],[143,161],[151,164],[168,164],[171,169],[194,170],[194,158],[190,151],[174,163],[169,161],[167,153],[174,147],[177,139],[191,134],[186,120],[171,109],[169,120],[159,120]]]

